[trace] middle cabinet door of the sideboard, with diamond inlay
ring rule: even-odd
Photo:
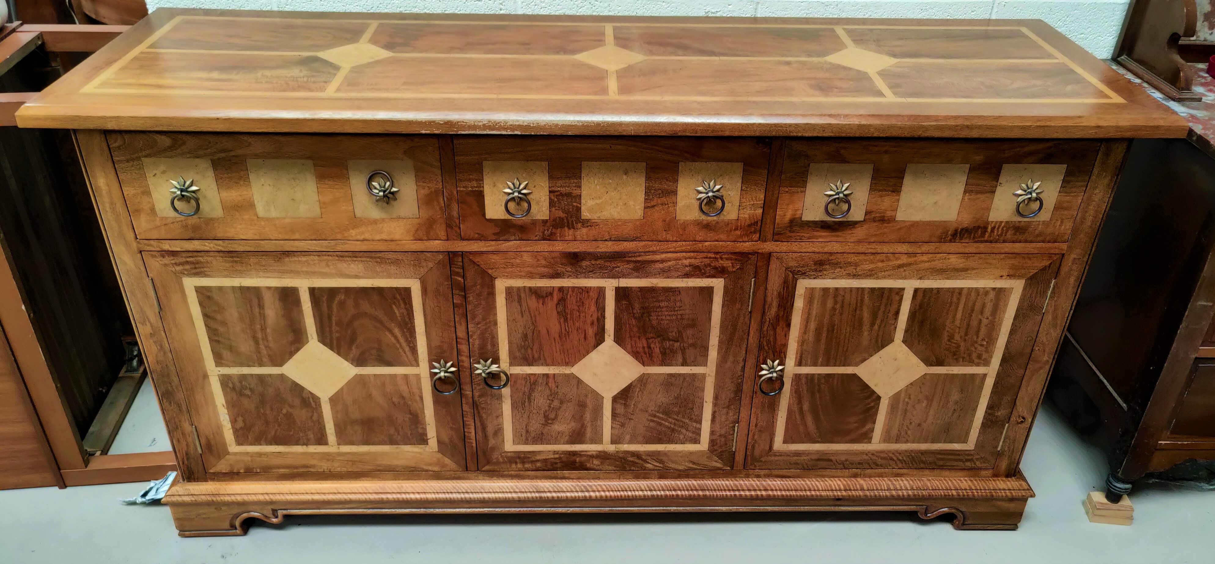
[[[755,256],[464,255],[482,470],[733,467]],[[498,384],[498,379],[488,383]]]

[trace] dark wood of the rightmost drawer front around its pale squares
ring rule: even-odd
[[[902,242],[1067,242],[1072,222],[1094,171],[1100,143],[1095,141],[1041,140],[791,140],[785,145],[785,164],[776,204],[776,241],[902,241]],[[864,221],[807,220],[813,196],[818,208],[826,190],[813,186],[820,163],[872,165]],[[903,185],[911,165],[965,165],[966,187],[951,220],[905,221]],[[1035,170],[1062,165],[1067,174],[1057,194],[1047,196],[1051,214],[1036,221],[1008,221],[993,214],[993,205],[1016,202],[1016,186],[1006,188],[1004,171],[1025,164]],[[1023,169],[1017,169],[1023,170]],[[813,177],[812,177],[813,176]],[[838,176],[838,174],[836,174]],[[823,182],[836,179],[827,177]],[[846,181],[848,179],[844,179]],[[1018,180],[1022,182],[1024,180]],[[1035,179],[1036,181],[1036,179]],[[809,184],[808,184],[809,182]],[[1049,182],[1044,182],[1046,187]],[[814,192],[809,192],[814,188]],[[999,188],[999,191],[998,191]],[[955,188],[956,190],[956,188]],[[916,196],[916,190],[906,194]],[[854,196],[860,196],[859,193]],[[819,199],[821,198],[821,199]],[[910,203],[910,202],[909,202]],[[855,203],[854,213],[855,213]],[[1025,209],[1027,212],[1029,208]],[[1011,213],[1011,209],[1010,209]],[[849,214],[850,215],[850,214]],[[1041,214],[1039,214],[1041,215]],[[1036,219],[1036,218],[1035,218]]]

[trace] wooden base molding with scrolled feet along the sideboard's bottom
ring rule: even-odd
[[[177,483],[181,536],[232,536],[287,515],[903,511],[955,529],[1013,530],[1034,496],[1013,478],[722,478]]]

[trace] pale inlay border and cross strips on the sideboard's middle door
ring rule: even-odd
[[[611,442],[611,397],[603,401],[603,442],[582,445],[519,445],[514,442],[514,417],[510,387],[502,389],[502,427],[505,451],[706,451],[713,416],[713,388],[717,377],[718,340],[722,329],[724,278],[498,278],[495,301],[498,318],[498,366],[513,374],[572,374],[572,366],[512,366],[510,331],[507,327],[507,288],[509,287],[601,287],[604,288],[604,342],[615,340],[615,303],[617,287],[710,287],[713,288],[706,366],[646,366],[643,373],[705,374],[703,410],[700,442],[628,445]]]

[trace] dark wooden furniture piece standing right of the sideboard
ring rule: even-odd
[[[1213,250],[1210,142],[1135,141],[1050,387],[1106,450],[1112,502],[1147,473],[1215,461]]]

